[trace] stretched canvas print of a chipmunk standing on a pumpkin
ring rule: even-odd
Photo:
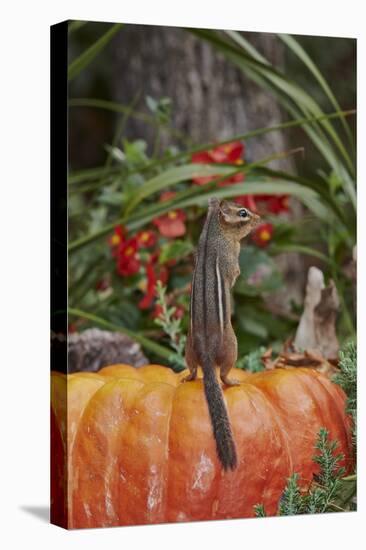
[[[355,59],[51,28],[52,523],[356,510]]]

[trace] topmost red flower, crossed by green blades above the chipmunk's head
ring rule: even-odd
[[[214,149],[208,151],[201,151],[200,153],[194,153],[191,156],[193,163],[197,164],[212,164],[212,163],[225,163],[225,164],[237,164],[244,163],[244,144],[241,141],[233,141],[225,145],[218,145]],[[202,176],[192,178],[193,182],[197,185],[205,185],[209,181],[212,181],[220,176]],[[231,185],[232,183],[239,183],[244,181],[244,174],[238,173],[231,178],[219,183],[219,186]]]

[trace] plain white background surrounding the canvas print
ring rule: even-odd
[[[132,4],[132,5],[131,5]],[[1,8],[0,544],[2,548],[296,548],[365,544],[365,29],[361,0],[11,1]],[[6,7],[5,7],[6,6]],[[49,26],[123,21],[357,37],[359,63],[359,511],[66,532],[49,487]],[[361,36],[363,32],[364,36]],[[329,52],[331,55],[332,52]],[[162,62],[164,60],[162,59]],[[362,67],[363,65],[363,67]],[[4,354],[5,352],[5,354]],[[42,517],[43,516],[43,517]],[[363,527],[363,529],[362,529]],[[362,530],[361,530],[362,529]],[[364,536],[363,536],[364,539]],[[364,547],[364,546],[363,546]]]

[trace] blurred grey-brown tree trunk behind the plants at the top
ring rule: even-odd
[[[247,33],[251,43],[270,61],[281,64],[283,49],[272,34]],[[144,99],[169,97],[172,123],[194,143],[225,139],[281,122],[273,97],[225,59],[210,44],[189,32],[171,27],[127,25],[114,42],[113,96],[130,104],[136,93]],[[130,119],[127,135],[143,137],[152,145],[155,130]],[[171,144],[165,134],[162,146]],[[247,160],[258,160],[287,148],[281,132],[246,144]],[[291,161],[274,166],[288,169]]]

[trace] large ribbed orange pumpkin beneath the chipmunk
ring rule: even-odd
[[[306,486],[317,472],[312,457],[322,426],[349,470],[345,395],[318,372],[231,373],[241,381],[224,389],[238,452],[233,472],[216,456],[202,380],[183,384],[186,374],[158,365],[52,374],[55,523],[244,518],[257,503],[275,514],[288,476],[298,472]]]

